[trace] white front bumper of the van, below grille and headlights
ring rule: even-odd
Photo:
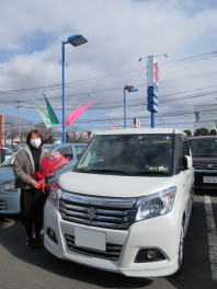
[[[44,215],[44,244],[45,247],[59,258],[66,258],[91,267],[122,273],[132,277],[158,277],[167,276],[178,269],[178,251],[181,232],[181,223],[170,212],[165,216],[135,222],[128,230],[112,230],[95,227],[87,227],[68,222],[61,219],[49,200],[45,205]],[[90,256],[69,248],[67,235],[75,235],[75,229],[82,228],[106,235],[106,243],[122,246],[116,261],[103,257]],[[57,243],[54,242],[48,230],[56,234]],[[135,263],[140,248],[157,248],[163,256],[163,261]]]

